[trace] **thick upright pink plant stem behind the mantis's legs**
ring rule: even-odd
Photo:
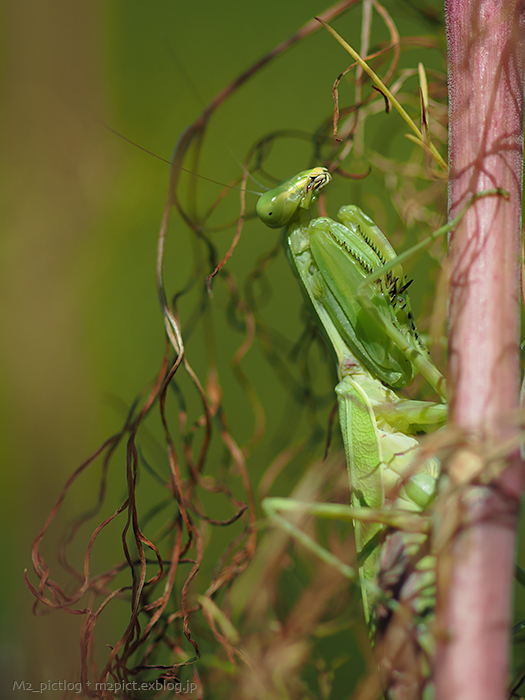
[[[451,239],[451,421],[468,440],[441,510],[450,515],[452,503],[455,515],[436,537],[448,543],[438,546],[436,698],[505,700],[524,475],[517,442],[499,462],[487,455],[517,435],[525,13],[518,0],[445,0],[445,9],[450,217],[482,190],[502,187],[510,199],[478,201]]]

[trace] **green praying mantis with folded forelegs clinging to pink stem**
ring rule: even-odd
[[[288,261],[336,361],[350,506],[268,498],[263,508],[349,578],[355,578],[354,569],[296,529],[284,513],[303,510],[353,521],[364,613],[378,649],[383,692],[392,699],[427,698],[433,692],[435,558],[425,511],[436,495],[439,461],[422,454],[417,434],[444,425],[445,382],[418,334],[403,256],[357,206],[343,206],[339,222],[313,218],[312,205],[330,180],[326,168],[300,172],[262,195],[257,214],[267,226],[283,228]],[[477,197],[489,194],[504,193]],[[431,238],[451,230],[472,201]],[[398,393],[416,372],[441,402]]]

